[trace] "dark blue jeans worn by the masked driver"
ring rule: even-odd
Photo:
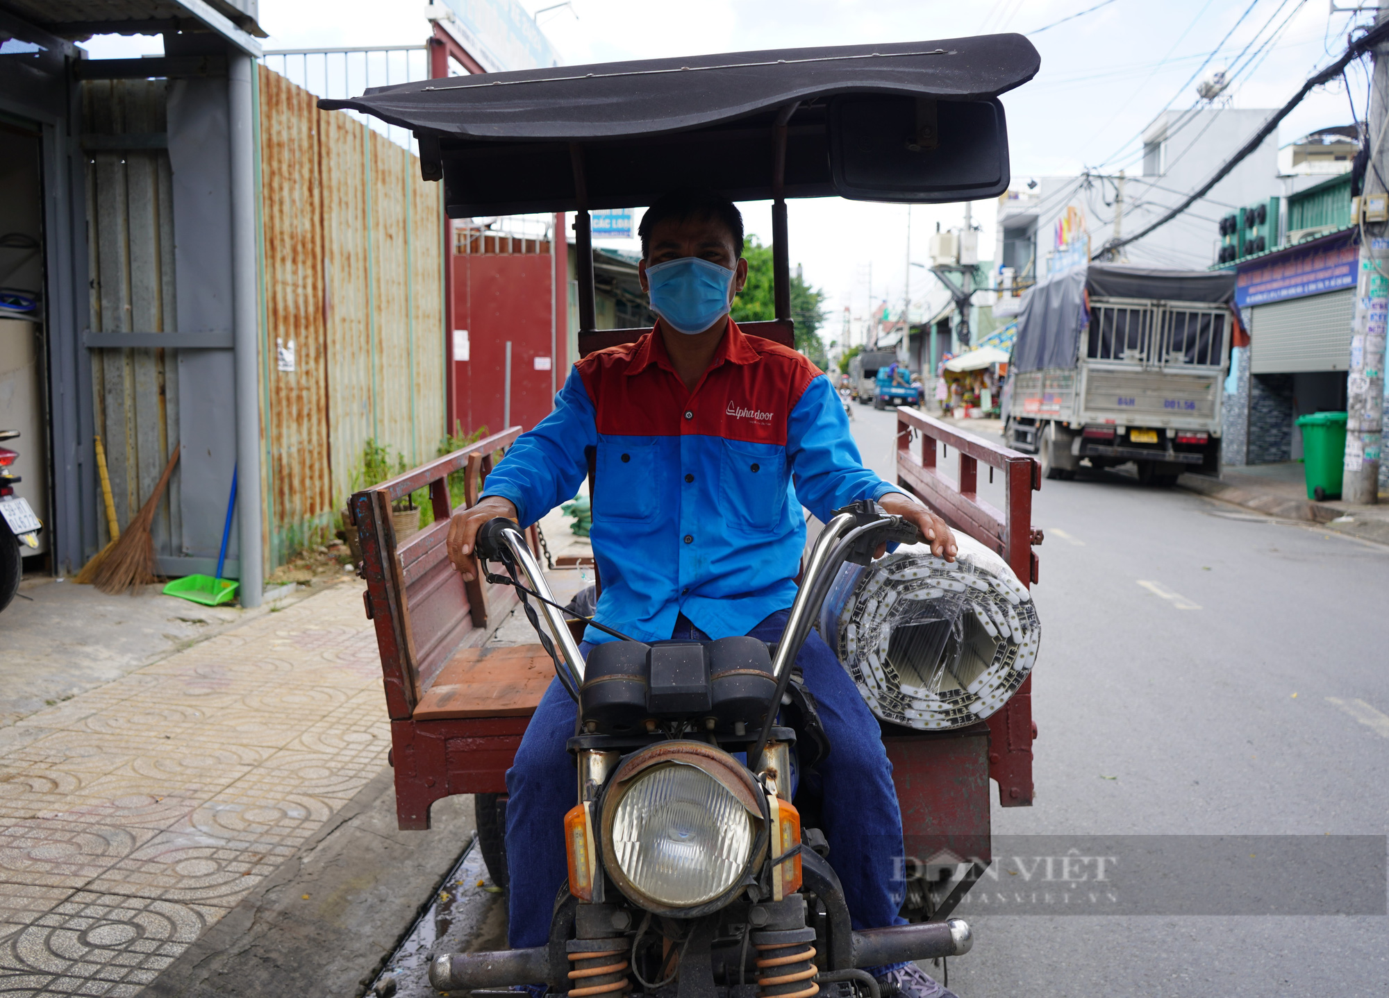
[[[789,611],[772,614],[750,632],[775,641]],[[686,622],[675,638],[704,638]],[[589,644],[581,645],[588,655]],[[892,763],[878,722],[835,652],[811,632],[796,665],[815,695],[831,752],[815,769],[824,788],[821,831],[829,843],[829,865],[839,874],[854,929],[900,924],[906,897],[901,880],[901,812],[892,786]],[[564,745],[574,734],[575,704],[558,680],[540,698],[517,758],[507,770],[507,872],[511,912],[507,937],[513,948],[540,947],[550,938],[554,897],[568,876],[564,815],[578,800],[574,761]]]

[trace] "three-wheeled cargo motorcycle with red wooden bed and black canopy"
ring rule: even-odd
[[[574,212],[581,355],[646,332],[596,329],[590,210],[650,204],[683,186],[771,200],[776,318],[740,328],[795,346],[786,198],[943,203],[1003,193],[999,94],[1036,71],[1035,49],[1000,35],[488,74],[319,104],[413,129],[424,176],[443,180],[450,217]],[[556,675],[579,705],[569,740],[575,806],[564,820],[569,877],[556,886],[549,944],[439,954],[433,986],[544,981],[571,998],[633,988],[810,998],[832,983],[878,998],[863,967],[967,952],[970,927],[950,915],[990,862],[990,777],[1001,805],[1032,801],[1031,679],[976,723],[918,730],[883,722],[907,854],[920,859],[906,869],[908,924],[861,931],[850,926],[824,837],[797,811],[797,731],[793,711],[782,711],[793,700],[790,665],[840,565],[867,564],[883,541],[910,543],[915,527],[872,504],[838,511],[807,552],[776,645],[619,640],[585,661],[576,641],[586,620],[560,609],[533,526],[489,522],[476,547],[489,570],[472,582],[446,557],[449,477],[463,473],[464,508],[475,504],[519,432],[508,428],[350,501],[403,829],[428,827],[435,800],[475,794],[483,855],[504,881],[499,808],[529,715]],[[951,448],[953,477],[940,473]],[[979,498],[979,462],[990,480],[1003,475],[1003,509]],[[597,494],[592,455],[588,466]],[[1032,458],[903,407],[897,483],[1001,555],[1022,584],[1036,580]],[[397,540],[392,502],[425,487],[435,525]],[[540,644],[489,647],[518,598]],[[692,837],[664,834],[671,812],[658,802],[672,794],[708,801],[717,822],[699,823]]]

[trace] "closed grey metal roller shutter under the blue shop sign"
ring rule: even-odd
[[[1354,311],[1353,287],[1250,308],[1249,369],[1256,375],[1345,371]]]

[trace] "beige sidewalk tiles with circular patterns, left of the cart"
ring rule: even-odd
[[[386,763],[344,584],[0,734],[0,995],[135,995]]]

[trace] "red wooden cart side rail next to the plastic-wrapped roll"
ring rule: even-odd
[[[938,466],[950,451],[958,458],[957,475],[950,480]],[[1003,473],[1007,508],[979,498],[979,462]],[[1026,454],[990,443],[972,433],[914,408],[897,409],[897,484],[911,490],[956,530],[963,530],[981,544],[999,552],[1024,586],[1038,580],[1038,557],[1033,544],[1042,532],[1032,529],[1032,493],[1042,489],[1042,468]],[[999,784],[999,804],[1015,808],[1032,804],[1032,677],[1001,711],[986,722],[989,776]]]

